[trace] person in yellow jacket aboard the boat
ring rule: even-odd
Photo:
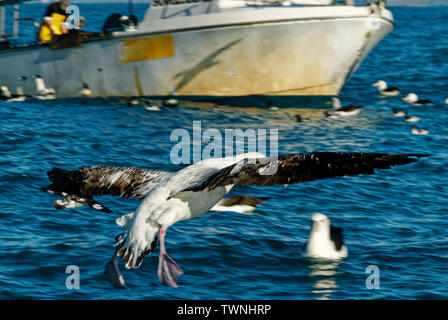
[[[49,42],[55,34],[60,35],[67,32],[66,28],[64,28],[65,20],[67,19],[65,9],[69,5],[69,0],[60,0],[53,2],[47,7],[39,31],[39,41],[41,43]]]

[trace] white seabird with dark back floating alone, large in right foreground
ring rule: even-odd
[[[332,226],[330,219],[322,213],[313,214],[311,219],[313,227],[306,244],[306,256],[318,259],[347,257],[342,228]]]

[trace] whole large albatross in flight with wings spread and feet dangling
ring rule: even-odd
[[[100,195],[143,200],[134,213],[116,220],[124,231],[115,238],[116,251],[106,264],[105,274],[116,288],[127,288],[118,269],[117,256],[126,268],[138,268],[159,241],[159,280],[177,287],[177,279],[183,272],[166,252],[166,230],[178,221],[208,212],[234,185],[288,185],[374,174],[374,169],[390,169],[423,156],[426,155],[314,152],[266,157],[247,153],[203,160],[174,173],[137,167],[93,166],[73,171],[53,168],[48,172],[52,183],[43,190],[64,197],[55,201],[55,206],[60,208],[88,205],[110,212],[93,199]]]

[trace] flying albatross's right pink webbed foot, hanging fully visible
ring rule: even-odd
[[[157,270],[157,275],[159,276],[160,282],[169,287],[177,287],[177,278],[184,272],[177,265],[176,261],[171,258],[165,249],[165,233],[164,228],[159,230],[159,241],[160,241],[160,254],[159,254],[159,268]]]

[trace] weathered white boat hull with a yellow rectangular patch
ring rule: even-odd
[[[263,13],[264,19],[240,18],[238,24],[202,21],[176,29],[179,18],[171,19],[171,27],[156,21],[145,32],[122,32],[75,48],[6,50],[0,52],[1,84],[34,94],[32,75],[39,74],[58,98],[79,97],[83,83],[92,97],[336,96],[393,29],[391,19],[356,9],[366,14],[282,18],[276,11],[270,19]]]

